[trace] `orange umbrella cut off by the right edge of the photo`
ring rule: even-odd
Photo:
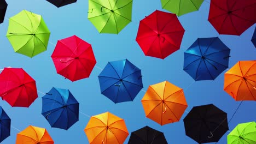
[[[236,101],[256,100],[256,61],[239,61],[224,74],[224,91]]]

